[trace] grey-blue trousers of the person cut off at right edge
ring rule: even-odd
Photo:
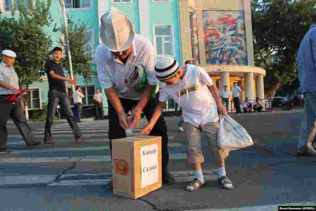
[[[306,100],[306,107],[302,115],[301,130],[297,142],[297,150],[306,148],[308,136],[314,127],[314,120],[316,119],[316,93],[306,93],[304,94],[304,99]],[[315,137],[313,142],[315,141]]]

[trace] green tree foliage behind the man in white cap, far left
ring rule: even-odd
[[[17,54],[14,68],[21,88],[39,81],[40,71],[48,59],[52,46],[51,37],[44,31],[52,23],[49,12],[51,0],[19,1],[12,8],[12,17],[0,16],[1,49],[10,49]],[[14,16],[19,11],[19,16]],[[15,18],[15,17],[18,17]]]

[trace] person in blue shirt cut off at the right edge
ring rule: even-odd
[[[316,156],[316,12],[313,12],[311,17],[312,25],[301,41],[297,53],[298,77],[306,103],[301,118],[297,154]]]

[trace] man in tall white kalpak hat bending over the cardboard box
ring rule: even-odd
[[[116,8],[101,17],[100,38],[95,61],[101,87],[108,99],[110,149],[112,139],[126,137],[125,129],[138,125],[143,112],[149,120],[156,107],[152,97],[156,85],[155,50],[145,37],[135,34],[131,20]],[[131,118],[127,115],[132,108]],[[162,137],[162,182],[173,184],[168,173],[167,125],[161,116],[150,135]],[[108,188],[112,189],[112,181]]]

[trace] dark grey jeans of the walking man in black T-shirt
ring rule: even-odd
[[[52,90],[48,92],[48,106],[47,118],[45,123],[44,141],[48,141],[52,138],[51,129],[58,104],[60,108],[64,111],[66,119],[75,135],[75,138],[79,138],[80,136],[82,136],[81,131],[72,113],[67,93]]]

